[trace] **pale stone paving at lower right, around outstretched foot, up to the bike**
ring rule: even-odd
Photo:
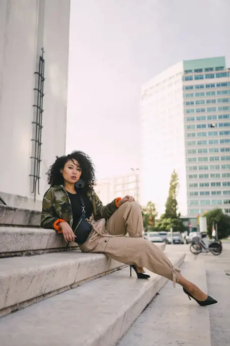
[[[230,243],[219,256],[194,256],[190,245],[167,245],[166,251],[186,252],[182,275],[217,299],[200,307],[189,301],[177,285],[167,282],[160,294],[140,314],[118,346],[229,346],[230,345]]]

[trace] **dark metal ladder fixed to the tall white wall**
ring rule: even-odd
[[[44,97],[44,49],[42,48],[42,55],[39,56],[39,65],[38,71],[35,72],[37,76],[37,85],[34,88],[35,93],[37,94],[37,103],[33,105],[35,107],[35,121],[33,124],[33,138],[32,141],[34,145],[32,146],[32,156],[33,161],[33,170],[30,177],[33,177],[33,190],[31,193],[34,194],[34,200],[36,200],[36,193],[40,194],[40,164],[41,164],[41,139],[42,139],[42,116],[43,116],[43,97]]]

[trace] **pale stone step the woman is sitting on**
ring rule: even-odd
[[[162,245],[159,245],[162,247]],[[104,254],[80,250],[0,260],[0,315],[124,268]]]

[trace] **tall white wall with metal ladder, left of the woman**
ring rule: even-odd
[[[45,172],[65,154],[69,21],[70,0],[0,2],[0,197],[7,205],[40,209]]]

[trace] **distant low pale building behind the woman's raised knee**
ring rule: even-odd
[[[133,171],[125,176],[102,179],[94,188],[103,205],[110,203],[114,198],[125,197],[127,194],[139,201],[139,174]]]

